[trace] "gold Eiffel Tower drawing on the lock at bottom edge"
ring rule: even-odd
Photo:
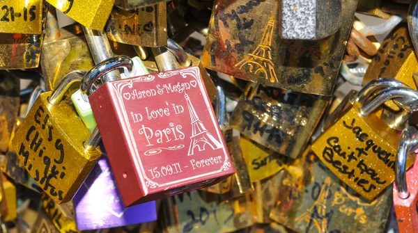
[[[307,232],[311,232],[311,228],[316,228],[318,233],[328,232],[328,221],[332,213],[326,213],[327,207],[325,202],[330,193],[331,178],[327,177],[320,189],[318,199],[312,204],[311,208],[307,209],[304,214],[295,218],[295,223],[300,224],[302,221],[307,222]],[[314,232],[314,231],[312,231]]]

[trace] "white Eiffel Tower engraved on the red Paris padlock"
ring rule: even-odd
[[[189,153],[187,155],[193,155],[195,147],[199,149],[199,152],[206,150],[206,145],[212,147],[212,150],[222,148],[222,144],[219,143],[219,141],[217,141],[215,137],[208,132],[206,127],[203,125],[203,122],[199,120],[199,116],[197,115],[196,111],[194,111],[192,102],[190,102],[189,95],[185,94],[185,99],[187,102],[187,107],[189,108],[190,118],[192,120],[192,136],[190,136]]]

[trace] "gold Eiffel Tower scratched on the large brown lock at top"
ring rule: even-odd
[[[263,32],[263,38],[251,54],[247,54],[235,66],[240,70],[248,70],[270,82],[277,82],[276,72],[274,72],[274,63],[272,61],[272,37],[274,31],[274,20],[270,19]]]

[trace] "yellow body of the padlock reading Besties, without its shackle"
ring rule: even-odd
[[[355,102],[312,145],[312,150],[336,176],[364,198],[372,200],[392,184],[399,136],[376,115],[362,117]],[[415,161],[408,155],[407,167]]]

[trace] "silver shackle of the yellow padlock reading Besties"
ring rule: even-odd
[[[364,116],[368,116],[389,99],[395,99],[398,102],[397,104],[405,111],[418,111],[418,92],[411,88],[394,87],[380,90],[359,108],[359,112]]]

